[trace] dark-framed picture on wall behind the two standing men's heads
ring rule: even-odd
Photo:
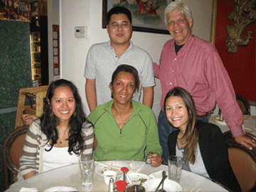
[[[133,31],[169,34],[164,22],[164,9],[175,0],[103,0],[102,28],[107,26],[107,12],[114,6],[123,6],[132,13]]]

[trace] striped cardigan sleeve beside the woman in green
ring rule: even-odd
[[[92,157],[92,149],[94,142],[93,125],[88,120],[82,124],[82,135],[84,137],[85,149],[82,151],[82,157]]]

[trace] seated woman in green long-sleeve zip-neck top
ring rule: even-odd
[[[132,100],[138,88],[137,70],[130,65],[119,65],[110,83],[113,100],[96,107],[87,118],[95,127],[93,159],[144,161],[146,149],[151,166],[161,164],[162,149],[154,113]]]

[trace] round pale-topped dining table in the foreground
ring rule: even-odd
[[[166,173],[168,173],[168,166],[162,164],[161,166],[154,168],[149,164],[146,164],[145,161],[95,161],[93,187],[90,189],[82,187],[79,164],[72,164],[58,169],[52,169],[43,172],[42,174],[37,174],[25,181],[15,183],[7,191],[20,191],[21,188],[36,188],[38,191],[45,191],[46,189],[55,186],[73,187],[77,191],[108,191],[108,185],[105,184],[101,172],[102,169],[105,169],[105,165],[116,167],[127,166],[129,171],[145,174],[147,176],[154,173],[161,173],[161,171],[166,171]],[[119,178],[117,177],[117,180],[120,178],[120,176]],[[182,170],[181,172],[181,180],[179,184],[183,191],[228,191],[228,188],[221,186],[218,182],[213,181],[210,178],[193,174],[185,170]]]

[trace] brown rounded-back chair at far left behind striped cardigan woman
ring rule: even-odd
[[[18,127],[11,132],[3,145],[2,158],[4,168],[4,188],[11,185],[10,173],[13,174],[13,180],[16,181],[19,168],[19,158],[23,150],[26,132],[28,127]],[[10,172],[11,171],[11,172]]]

